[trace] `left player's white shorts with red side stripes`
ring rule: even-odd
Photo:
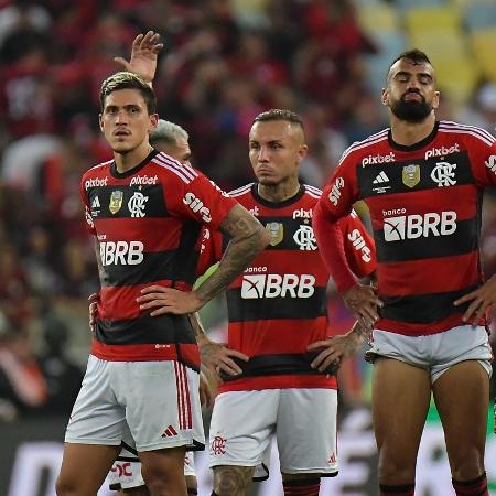
[[[198,374],[179,362],[107,362],[90,355],[65,442],[120,445],[128,432],[139,452],[203,449]]]

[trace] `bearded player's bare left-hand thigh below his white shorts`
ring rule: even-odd
[[[373,421],[379,450],[414,462],[430,399],[429,370],[378,357],[373,373]]]

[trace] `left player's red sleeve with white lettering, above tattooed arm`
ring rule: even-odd
[[[184,172],[171,174],[164,194],[172,215],[196,220],[212,231],[218,229],[237,203],[200,171],[186,165]]]

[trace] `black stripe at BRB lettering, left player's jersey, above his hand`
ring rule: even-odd
[[[180,250],[144,252],[138,265],[98,265],[103,287],[145,284],[160,280],[183,281],[193,284],[198,254],[192,248],[186,254]]]

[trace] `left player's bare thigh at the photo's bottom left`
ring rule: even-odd
[[[119,446],[65,443],[57,494],[96,494],[119,450]]]

